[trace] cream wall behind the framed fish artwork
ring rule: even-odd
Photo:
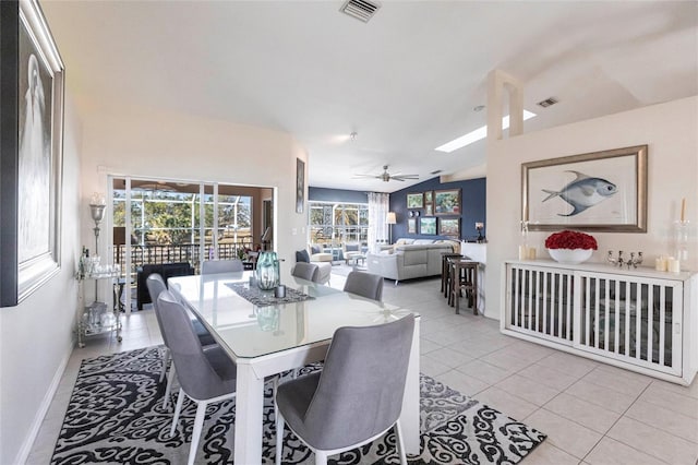
[[[647,234],[593,233],[599,242],[591,262],[603,262],[609,250],[641,251],[645,265],[671,251],[673,222],[682,198],[693,224],[689,270],[698,271],[698,97],[689,97],[532,132],[491,143],[488,147],[486,315],[500,318],[502,266],[517,258],[521,219],[521,164],[590,152],[648,145]],[[529,245],[547,259],[545,238],[529,234]]]

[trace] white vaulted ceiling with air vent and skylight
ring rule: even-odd
[[[698,2],[43,1],[79,105],[133,103],[291,133],[315,187],[392,192],[484,172],[485,79],[525,83],[537,130],[698,94]],[[559,104],[535,105],[554,96]],[[349,134],[358,133],[356,141]],[[418,181],[354,174],[417,174]]]

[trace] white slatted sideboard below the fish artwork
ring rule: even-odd
[[[698,371],[698,274],[507,261],[503,333],[688,385]]]

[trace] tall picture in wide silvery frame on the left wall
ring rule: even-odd
[[[0,305],[10,307],[60,269],[64,67],[35,1],[0,9]]]

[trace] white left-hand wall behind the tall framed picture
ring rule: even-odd
[[[24,462],[73,348],[80,130],[67,95],[60,273],[19,306],[0,309],[0,464]]]

